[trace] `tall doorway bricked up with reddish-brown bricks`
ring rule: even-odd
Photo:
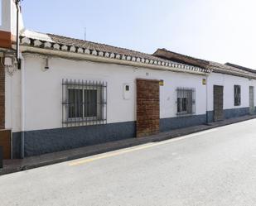
[[[159,132],[159,80],[137,79],[137,137]]]

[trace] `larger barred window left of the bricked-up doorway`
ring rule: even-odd
[[[107,83],[62,79],[62,127],[107,123]]]

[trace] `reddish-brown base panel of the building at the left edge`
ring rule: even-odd
[[[0,130],[0,146],[3,150],[3,159],[11,159],[11,131]]]

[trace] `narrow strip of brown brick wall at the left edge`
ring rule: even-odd
[[[5,128],[5,71],[0,63],[0,129]]]

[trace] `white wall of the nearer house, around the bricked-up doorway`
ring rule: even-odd
[[[204,76],[174,73],[131,66],[51,58],[50,69],[43,71],[45,59],[25,55],[27,131],[62,127],[62,79],[101,80],[108,82],[108,123],[136,120],[136,79],[163,79],[160,87],[160,116],[176,117],[176,88],[196,89],[196,114],[205,114]],[[20,71],[7,77],[7,123],[20,131]],[[123,99],[123,84],[130,84],[131,98]],[[11,92],[12,90],[12,92]],[[12,95],[10,95],[12,93]],[[12,103],[11,103],[12,102]]]

